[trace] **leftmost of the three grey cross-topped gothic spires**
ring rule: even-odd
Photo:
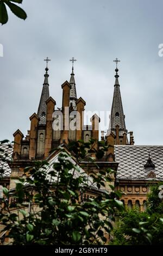
[[[40,103],[39,103],[39,108],[37,111],[37,115],[39,115],[40,121],[39,124],[46,124],[46,112],[47,112],[47,107],[46,107],[46,100],[49,98],[49,83],[48,83],[48,67],[47,64],[51,59],[44,59],[46,61],[46,73],[44,75],[44,82],[43,82],[43,87],[42,87],[42,93],[41,93],[41,98],[40,98]]]

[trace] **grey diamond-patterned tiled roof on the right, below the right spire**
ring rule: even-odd
[[[148,155],[155,168],[145,168]],[[147,175],[152,171],[155,179],[163,180],[163,146],[115,145],[115,161],[118,162],[116,179],[152,179]]]

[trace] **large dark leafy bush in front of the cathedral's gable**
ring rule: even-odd
[[[58,161],[51,168],[48,162],[37,161],[26,168],[28,178],[19,178],[15,190],[3,189],[9,202],[2,199],[0,224],[4,231],[9,231],[13,245],[106,242],[115,211],[122,210],[123,205],[116,199],[120,193],[104,190],[105,182],[111,181],[110,169],[87,176],[77,164],[82,159],[95,161],[90,156],[90,153],[98,156],[93,145],[95,141],[71,143],[72,154],[60,148]],[[100,146],[101,157],[106,147]],[[96,196],[84,200],[84,194],[93,191]]]

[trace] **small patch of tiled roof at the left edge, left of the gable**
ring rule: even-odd
[[[1,168],[4,169],[3,177],[7,177],[7,176],[10,176],[11,169],[7,162],[2,161],[2,158],[5,157],[5,154],[8,154],[5,157],[5,159],[10,160],[13,153],[13,148],[12,147],[9,148],[7,144],[2,144],[2,145],[0,144],[0,149],[4,150],[4,152],[0,151],[0,169]]]

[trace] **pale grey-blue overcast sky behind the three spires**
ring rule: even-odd
[[[9,12],[0,27],[0,139],[12,140],[17,129],[26,136],[39,106],[44,58],[52,59],[49,91],[57,107],[74,57],[77,96],[86,111],[99,112],[111,110],[117,57],[128,131],[135,144],[163,144],[163,1],[23,0],[22,8],[26,21]]]

